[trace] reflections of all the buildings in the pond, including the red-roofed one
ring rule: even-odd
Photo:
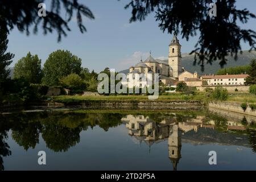
[[[140,142],[145,142],[149,146],[149,150],[152,144],[168,139],[168,153],[174,170],[177,169],[177,164],[181,158],[181,136],[184,134],[191,135],[189,131],[198,133],[200,128],[214,129],[215,127],[215,121],[213,119],[201,115],[180,118],[177,114],[171,114],[165,115],[164,117],[158,116],[157,120],[156,122],[154,119],[144,115],[127,115],[121,119],[126,124],[127,129],[129,129],[129,135],[135,137]],[[228,130],[245,130],[241,122],[228,119],[224,123]],[[196,136],[194,134],[192,135],[193,137]],[[202,137],[200,132],[197,136],[200,136],[199,138]],[[220,139],[216,139],[216,141],[218,140]]]

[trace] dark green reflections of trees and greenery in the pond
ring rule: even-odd
[[[144,113],[144,117],[149,117],[152,121],[159,123],[162,119],[166,121],[187,122],[192,118],[196,118],[198,113]],[[53,113],[16,113],[10,115],[0,115],[0,169],[3,169],[2,157],[11,155],[7,139],[7,131],[13,130],[12,137],[19,146],[23,146],[25,150],[35,148],[39,143],[39,134],[46,142],[48,148],[55,152],[68,151],[72,146],[80,142],[80,132],[87,130],[89,127],[101,127],[104,131],[108,131],[110,127],[121,125],[121,118],[126,114],[119,113],[93,113],[84,112],[53,112]],[[141,114],[135,114],[141,115]],[[175,119],[174,119],[175,118]],[[213,119],[216,128],[225,129],[227,127],[227,119],[217,114],[205,114],[205,121]],[[242,121],[242,123],[245,121]],[[250,124],[251,125],[251,124]],[[254,125],[254,123],[253,123]],[[248,133],[251,148],[256,152],[256,136],[255,131]]]

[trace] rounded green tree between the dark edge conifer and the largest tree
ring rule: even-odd
[[[14,78],[24,77],[30,84],[40,84],[42,80],[41,60],[38,55],[27,53],[14,66]]]

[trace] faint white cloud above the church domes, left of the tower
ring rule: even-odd
[[[147,59],[148,56],[150,56],[149,52],[136,51],[131,55],[127,55],[124,59],[119,60],[117,68],[120,71],[123,69],[129,69],[131,66],[139,63],[139,61],[141,61],[141,58],[144,61]]]

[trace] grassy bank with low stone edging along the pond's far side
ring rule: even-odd
[[[191,109],[198,110],[208,106],[209,103],[221,101],[214,100],[209,94],[198,92],[194,95],[175,93],[159,96],[158,100],[148,100],[148,96],[55,96],[51,100],[28,102],[10,102],[0,106],[0,110],[18,109],[19,107],[76,107],[81,109]],[[237,103],[238,108],[242,103],[248,105],[256,103],[256,96],[251,94],[230,94],[226,103]],[[218,107],[217,105],[215,107]],[[227,109],[226,106],[221,107]],[[250,114],[250,113],[248,113]]]

